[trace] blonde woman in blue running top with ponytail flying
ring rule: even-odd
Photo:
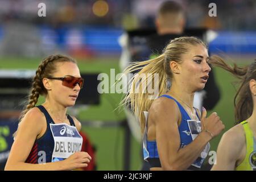
[[[125,74],[141,70],[122,103],[130,104],[141,122],[144,159],[151,170],[200,169],[208,142],[224,129],[217,113],[205,118],[205,109],[201,115],[193,107],[195,92],[204,89],[209,77],[208,60],[207,47],[200,39],[181,37],[171,40],[156,59],[126,69]],[[147,92],[152,85],[159,90],[155,100]]]

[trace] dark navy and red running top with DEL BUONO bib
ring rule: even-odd
[[[81,151],[82,137],[76,130],[73,119],[68,116],[70,126],[65,123],[55,124],[48,111],[37,106],[46,117],[47,129],[42,137],[35,140],[26,163],[48,163],[68,158],[76,151]]]

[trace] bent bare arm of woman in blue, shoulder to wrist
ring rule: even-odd
[[[168,98],[159,98],[154,101],[149,110],[148,125],[150,122],[155,125],[159,158],[164,170],[187,169],[195,162],[207,142],[212,138],[207,132],[202,132],[188,146],[180,148],[178,129],[180,117],[176,102]]]

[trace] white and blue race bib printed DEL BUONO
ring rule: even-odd
[[[54,139],[52,162],[67,159],[75,152],[81,151],[82,137],[75,126],[50,123],[50,127]]]

